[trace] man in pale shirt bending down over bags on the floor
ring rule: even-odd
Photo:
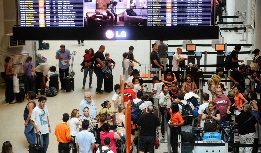
[[[44,87],[49,88],[49,86],[46,85],[45,78],[48,77],[48,72],[55,72],[56,67],[52,66],[51,63],[41,63],[35,68],[35,73],[37,74],[38,82],[41,82],[41,94],[44,94]]]

